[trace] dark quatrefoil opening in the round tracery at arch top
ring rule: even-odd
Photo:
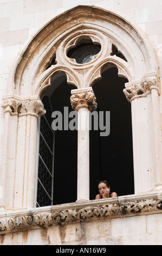
[[[72,48],[67,53],[67,56],[71,59],[75,59],[78,64],[86,64],[90,62],[93,56],[98,54],[101,50],[101,45],[94,45],[91,40],[88,40],[91,42],[86,41],[80,41],[75,48]]]

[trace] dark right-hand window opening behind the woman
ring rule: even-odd
[[[93,85],[97,111],[110,111],[110,133],[101,137],[100,131],[90,131],[90,199],[98,193],[100,180],[108,180],[118,196],[134,194],[131,104],[123,93],[126,82],[118,69],[110,68]]]

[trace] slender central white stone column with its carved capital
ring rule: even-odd
[[[92,87],[72,90],[70,101],[78,112],[77,202],[89,200],[89,112],[96,108]]]

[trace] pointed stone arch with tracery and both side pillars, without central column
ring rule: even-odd
[[[67,52],[87,37],[100,44],[101,51],[91,62],[78,64],[68,58]],[[113,45],[127,61],[111,54]],[[2,181],[6,208],[34,206],[36,129],[37,118],[45,113],[40,101],[43,90],[61,72],[67,75],[67,83],[76,88],[91,87],[101,79],[102,69],[110,64],[118,68],[119,76],[129,81],[124,93],[132,103],[135,192],[162,188],[160,87],[155,52],[145,33],[120,14],[80,5],[44,25],[18,54],[10,72],[8,95],[2,105],[7,127],[2,176],[10,179],[6,184]],[[15,156],[14,160],[9,154]],[[139,182],[142,179],[145,184]]]

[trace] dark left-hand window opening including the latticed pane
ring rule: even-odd
[[[44,92],[48,96],[42,98],[46,114],[40,120],[37,206],[76,201],[77,131],[64,130],[64,107],[66,114],[67,109],[68,113],[73,111],[70,96],[71,90],[76,87],[67,84],[65,77],[58,75]],[[62,114],[62,130],[51,129],[54,120],[51,114],[54,111]]]

